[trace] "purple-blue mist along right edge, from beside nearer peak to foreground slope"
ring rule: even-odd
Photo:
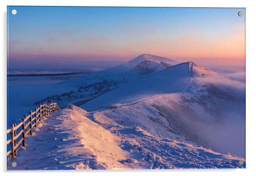
[[[245,82],[223,77],[199,78],[224,90],[236,101],[219,101],[221,121],[194,123],[192,130],[199,135],[202,145],[220,153],[230,153],[245,158]]]

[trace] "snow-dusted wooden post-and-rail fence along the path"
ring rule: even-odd
[[[39,107],[35,107],[35,111],[32,112],[32,110],[30,110],[29,115],[24,115],[22,122],[17,125],[11,124],[11,128],[7,129],[7,135],[9,134],[7,136],[7,150],[9,150],[7,151],[7,157],[11,155],[11,158],[14,159],[19,146],[21,144],[22,146],[25,146],[25,141],[28,133],[32,135],[33,128],[37,128],[38,121],[41,121],[42,117],[46,117],[50,115],[50,112],[56,110],[60,110],[60,107],[55,102],[51,102],[50,104],[40,103]],[[20,132],[17,132],[20,126],[22,126],[22,129],[20,130]],[[22,137],[20,137],[20,135],[22,135]],[[19,141],[17,142],[17,140]],[[10,147],[8,149],[9,144]]]

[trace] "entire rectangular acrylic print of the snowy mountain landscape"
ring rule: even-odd
[[[245,8],[8,6],[7,27],[8,170],[245,168]]]

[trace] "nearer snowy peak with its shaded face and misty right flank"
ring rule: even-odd
[[[244,157],[244,86],[188,62],[129,82],[80,107],[111,119],[132,119],[159,137],[180,135],[182,140]],[[213,136],[213,131],[227,135]]]

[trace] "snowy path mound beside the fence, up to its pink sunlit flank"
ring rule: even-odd
[[[9,170],[128,168],[118,162],[128,154],[118,146],[119,138],[79,110],[51,113],[43,123],[18,151],[17,167],[8,163]]]

